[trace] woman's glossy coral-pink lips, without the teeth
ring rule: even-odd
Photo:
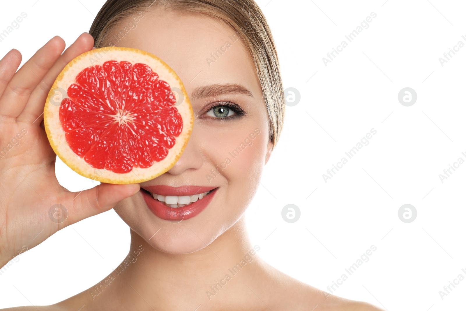
[[[212,190],[213,189],[213,190]],[[201,194],[206,191],[212,190],[209,194],[204,196],[202,200],[197,200],[184,207],[168,207],[163,202],[155,200],[151,193],[160,195],[172,195],[172,196],[183,196]],[[183,186],[183,187],[170,187],[170,186],[151,186],[142,187],[141,194],[143,195],[144,201],[147,207],[157,217],[164,220],[181,221],[190,219],[200,212],[202,212],[207,205],[212,201],[214,195],[217,193],[218,187],[200,187],[200,186]]]

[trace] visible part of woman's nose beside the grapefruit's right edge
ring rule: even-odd
[[[167,173],[179,175],[186,170],[196,170],[202,167],[203,154],[201,152],[199,142],[197,141],[197,139],[199,139],[199,135],[196,135],[196,132],[196,123],[194,123],[191,137],[188,140],[188,145],[186,145],[181,157]]]

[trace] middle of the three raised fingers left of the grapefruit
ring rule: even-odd
[[[59,36],[50,39],[27,62],[21,66],[0,97],[0,115],[18,117],[27,99],[43,76],[56,62],[65,48],[65,41]]]

